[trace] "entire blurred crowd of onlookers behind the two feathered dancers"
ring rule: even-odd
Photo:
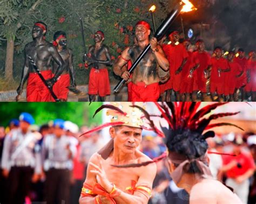
[[[103,137],[106,136],[100,131],[78,137],[88,130],[86,126],[79,129],[75,123],[62,119],[37,126],[27,112],[23,112],[19,119],[12,119],[9,126],[0,126],[0,202],[78,203],[83,195],[81,189],[86,181],[87,167],[92,162],[90,158],[105,145]],[[221,153],[208,154],[213,178],[233,188],[242,203],[254,203],[254,133],[218,135],[208,138],[207,143],[208,151]],[[166,151],[163,140],[149,133],[143,135],[138,145],[138,150],[151,159]],[[188,203],[190,194],[177,187],[175,177],[170,177],[169,161],[164,159],[156,164],[149,203]]]

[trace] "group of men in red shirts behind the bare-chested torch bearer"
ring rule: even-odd
[[[221,47],[215,47],[211,55],[205,51],[203,40],[192,46],[190,40],[179,43],[179,33],[170,34],[171,43],[162,44],[165,55],[170,63],[170,79],[160,85],[162,101],[171,101],[171,91],[176,101],[206,101],[211,93],[212,100],[238,101],[237,90],[240,89],[241,100],[245,94],[255,101],[256,93],[256,60],[255,51],[251,51],[246,59],[245,52],[240,48],[238,56],[234,51],[228,52],[226,58]],[[210,90],[207,90],[210,79]],[[201,99],[197,93],[201,92]]]

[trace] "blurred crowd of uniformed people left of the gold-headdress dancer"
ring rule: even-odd
[[[78,203],[88,161],[104,145],[99,132],[78,137],[86,130],[62,119],[37,126],[27,112],[0,126],[0,202]]]

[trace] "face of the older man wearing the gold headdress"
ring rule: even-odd
[[[141,128],[117,126],[110,129],[110,135],[114,139],[114,147],[125,153],[133,153],[142,142]]]

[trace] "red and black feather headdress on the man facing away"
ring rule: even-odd
[[[144,113],[144,117],[147,119],[150,125],[150,130],[154,130],[158,133],[160,137],[164,137],[165,142],[167,140],[177,139],[177,135],[190,135],[191,133],[196,133],[200,135],[200,139],[206,139],[208,137],[214,137],[215,133],[213,131],[207,131],[203,134],[203,131],[223,125],[231,125],[235,126],[236,128],[240,128],[239,126],[232,124],[232,123],[214,123],[210,124],[211,121],[214,119],[225,117],[225,116],[232,116],[237,115],[239,112],[223,112],[219,114],[212,114],[206,117],[207,114],[217,107],[226,104],[227,102],[218,102],[206,105],[205,107],[199,109],[201,102],[155,102],[154,104],[161,112],[161,115],[150,115],[146,110],[141,109],[137,105],[133,105],[140,109]],[[198,110],[199,109],[199,110]],[[169,128],[165,128],[161,126],[161,130],[157,128],[157,126],[152,121],[152,117],[160,117],[164,118],[165,121],[168,123]],[[149,130],[149,128],[147,128]],[[188,133],[187,133],[188,132]],[[192,135],[192,134],[191,134]],[[208,153],[215,153],[209,152]],[[164,153],[161,156],[154,158],[152,161],[147,161],[145,163],[140,164],[129,164],[129,165],[122,165],[116,167],[139,167],[145,166],[150,163],[154,163],[159,161],[163,158],[167,157],[167,154]]]

